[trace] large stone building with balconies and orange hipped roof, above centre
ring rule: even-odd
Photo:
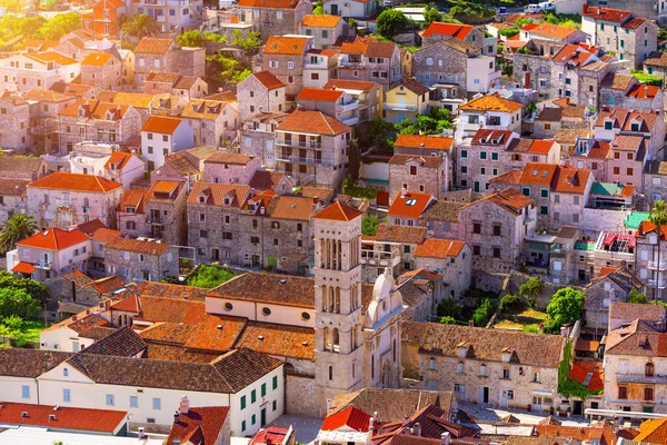
[[[276,169],[336,188],[347,175],[351,128],[320,112],[296,110],[276,127]]]

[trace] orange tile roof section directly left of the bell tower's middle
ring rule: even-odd
[[[315,329],[248,322],[235,347],[247,347],[271,356],[315,362]]]

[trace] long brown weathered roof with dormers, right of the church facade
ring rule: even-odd
[[[467,344],[468,357],[501,362],[502,354],[510,352],[514,363],[546,368],[558,367],[565,345],[559,335],[414,322],[404,322],[401,338],[424,354],[437,349],[438,354],[458,357],[459,345]]]

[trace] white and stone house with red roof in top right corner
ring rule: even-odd
[[[584,4],[581,31],[593,37],[593,44],[627,60],[631,69],[641,68],[658,47],[658,26],[633,11]]]

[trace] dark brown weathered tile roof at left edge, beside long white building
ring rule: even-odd
[[[0,376],[37,378],[72,356],[72,353],[0,348]]]

